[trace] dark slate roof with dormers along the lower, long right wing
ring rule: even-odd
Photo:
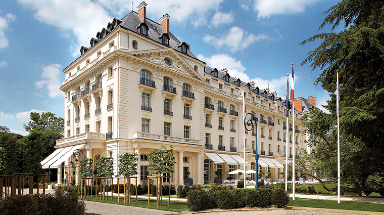
[[[246,87],[248,87],[249,92],[255,93],[258,97],[264,96],[264,92],[265,92],[264,90],[260,90],[258,87],[252,87],[252,85],[250,83],[247,83],[247,82],[244,82],[244,81],[240,80],[240,84],[237,85],[237,80],[239,80],[239,78],[232,77],[228,73],[224,73],[224,72],[218,71],[216,69],[217,70],[217,77],[214,76],[214,70],[215,69],[216,68],[212,68],[210,66],[206,66],[204,68],[204,73],[212,75],[212,79],[214,79],[214,80],[218,80],[218,79],[224,80],[224,84],[227,84],[228,82],[232,83],[232,84],[236,85],[237,89],[238,89],[238,87],[241,87],[241,86],[245,85]],[[225,81],[225,76],[226,75],[229,75],[229,81]],[[259,93],[257,93],[257,91],[259,91]],[[271,93],[267,93],[265,98],[270,99],[272,101],[277,101],[277,100],[282,101],[280,97],[275,97]]]

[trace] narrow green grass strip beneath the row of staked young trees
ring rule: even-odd
[[[99,200],[100,195],[98,197],[98,200],[95,200],[95,197],[88,197],[83,198],[83,200],[87,201],[96,201],[96,202],[104,202],[104,203],[110,203],[110,204],[121,204],[121,205],[128,205],[133,207],[143,207],[143,208],[150,208],[150,209],[157,209],[157,210],[166,210],[166,211],[173,211],[173,212],[181,212],[184,210],[188,210],[188,207],[186,206],[186,202],[178,202],[178,201],[171,201],[168,206],[168,200],[163,199],[163,205],[161,207],[156,207],[156,200],[150,201],[151,206],[148,206],[148,199],[139,199],[135,197],[131,197],[131,202],[124,203],[124,197],[120,197],[120,202],[117,202],[117,196],[114,196],[113,199],[110,199],[111,197],[108,197],[108,200]]]

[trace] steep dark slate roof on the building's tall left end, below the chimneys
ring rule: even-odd
[[[136,32],[137,34],[140,34],[140,29],[137,29],[137,26],[139,26],[142,23],[141,18],[139,17],[138,13],[131,11],[129,14],[127,14],[123,19],[121,19],[121,23],[118,25],[120,27],[123,27],[125,29],[128,29],[130,31]],[[140,34],[141,36],[147,37],[149,39],[152,39],[156,42],[159,42],[159,44],[162,44],[162,39],[159,38],[165,31],[161,27],[161,24],[146,18],[146,24],[148,26],[148,36]],[[118,26],[115,26],[117,28]],[[113,30],[112,30],[113,31]],[[111,31],[111,32],[112,32]],[[96,32],[95,32],[96,33]],[[110,32],[109,32],[110,33]],[[108,33],[108,34],[109,34]],[[178,47],[179,44],[181,44],[181,41],[176,38],[175,35],[173,35],[171,32],[169,32],[169,47],[173,48],[174,50],[182,53],[185,55],[185,53],[181,52],[181,46]],[[101,39],[102,40],[102,39]],[[91,49],[91,48],[89,48]],[[88,49],[88,50],[89,50]],[[186,52],[186,55],[192,58],[195,58],[199,60],[194,54],[192,54],[188,49]]]

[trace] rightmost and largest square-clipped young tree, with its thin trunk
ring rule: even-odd
[[[175,156],[173,156],[172,153],[172,146],[170,146],[170,149],[166,149],[164,146],[162,146],[161,150],[153,150],[148,155],[149,163],[150,163],[150,169],[149,174],[150,175],[167,175],[171,174],[175,171]],[[161,199],[161,182],[162,180],[157,180],[157,206],[160,206],[160,199]]]

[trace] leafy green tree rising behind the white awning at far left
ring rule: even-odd
[[[31,112],[30,117],[28,124],[24,123],[25,131],[41,134],[40,138],[45,148],[43,157],[47,157],[55,151],[56,140],[64,137],[64,119],[51,112],[41,115]]]

